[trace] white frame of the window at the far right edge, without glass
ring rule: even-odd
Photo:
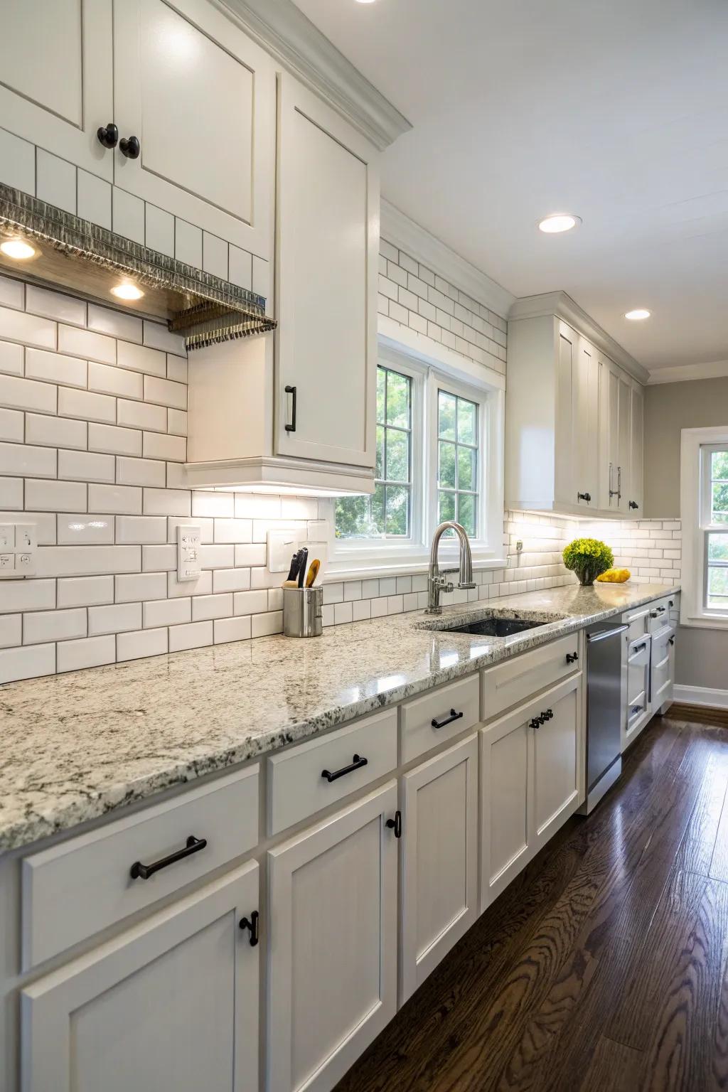
[[[681,626],[728,629],[728,610],[716,610],[706,605],[705,560],[708,532],[728,530],[726,524],[711,523],[706,468],[712,452],[726,448],[728,448],[728,425],[718,428],[683,428],[680,432]]]

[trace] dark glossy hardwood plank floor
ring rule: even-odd
[[[336,1092],[728,1089],[728,727],[655,717]]]

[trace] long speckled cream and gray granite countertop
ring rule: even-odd
[[[0,853],[677,591],[571,584],[7,684]],[[493,614],[549,622],[508,638],[432,628]]]

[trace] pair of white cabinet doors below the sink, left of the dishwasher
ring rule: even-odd
[[[480,909],[573,815],[583,763],[582,676],[480,732]]]

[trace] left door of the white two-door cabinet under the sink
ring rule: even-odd
[[[524,708],[480,733],[480,909],[529,859],[530,716]]]

